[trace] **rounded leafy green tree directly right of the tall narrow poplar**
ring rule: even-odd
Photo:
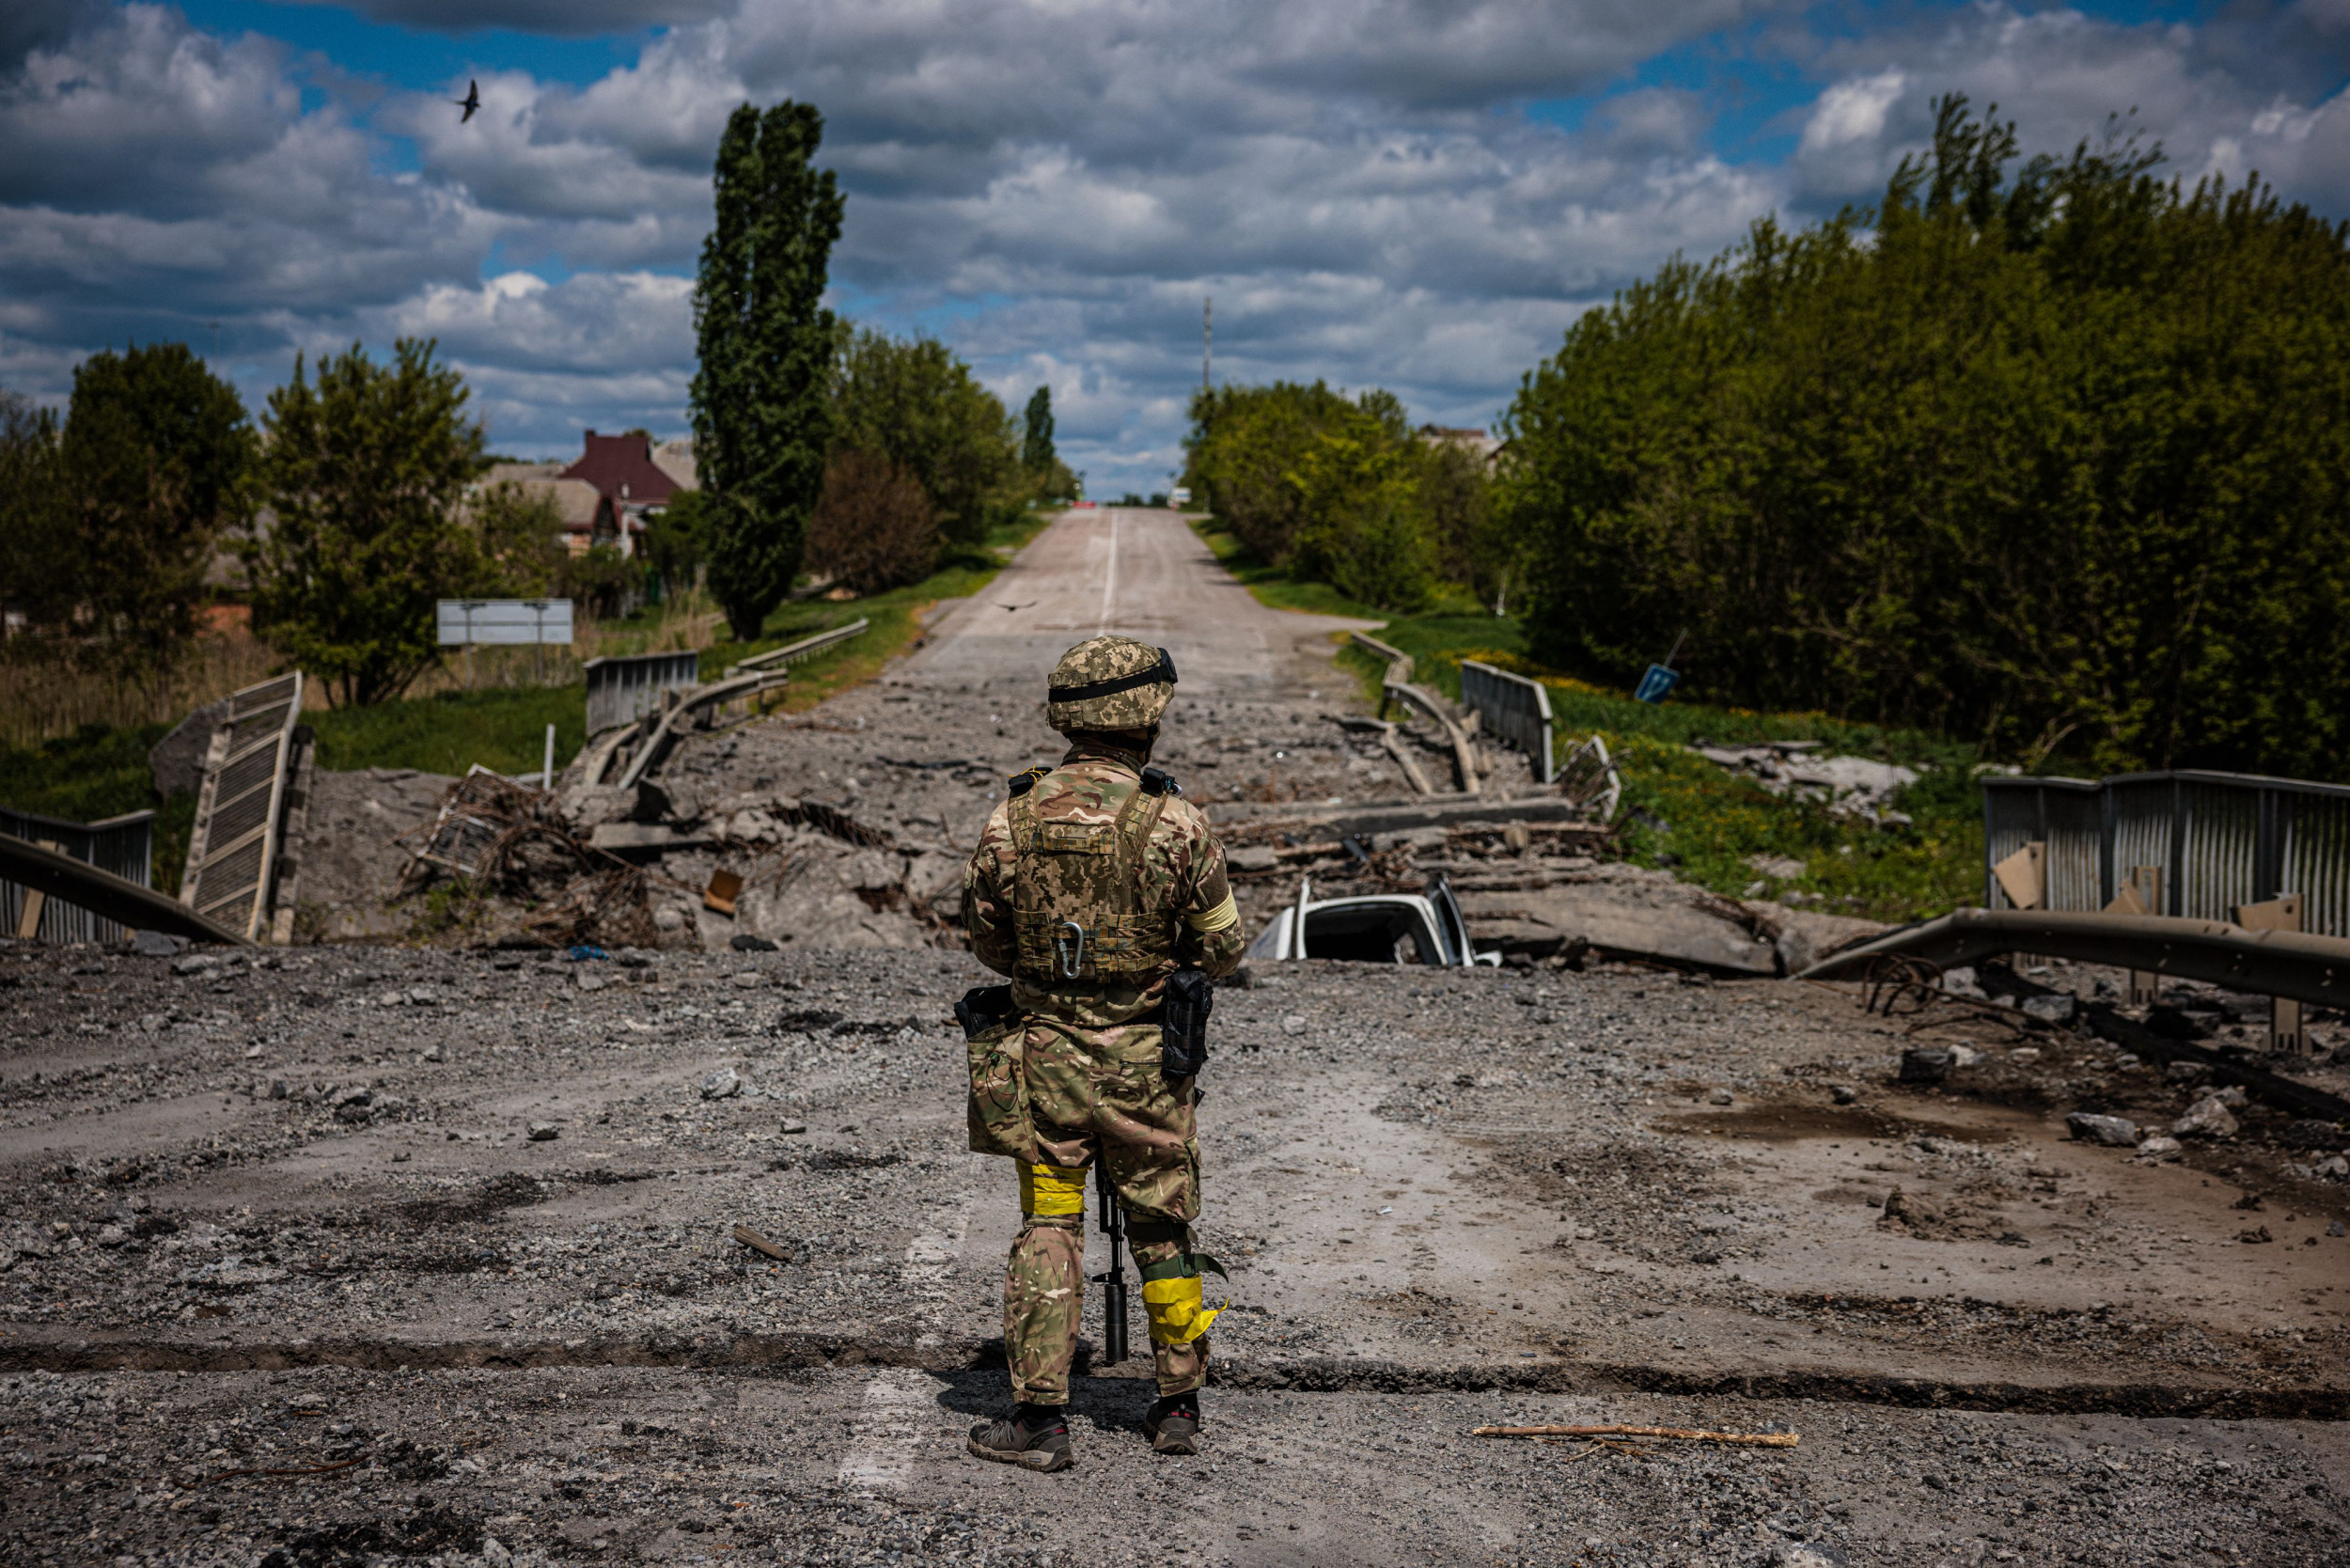
[[[1015,505],[1020,449],[1010,414],[938,339],[853,334],[841,348],[834,404],[834,447],[874,451],[914,475],[949,541],[985,541],[996,512]]]

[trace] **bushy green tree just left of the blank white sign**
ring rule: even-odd
[[[254,630],[341,705],[381,703],[437,658],[432,604],[482,581],[458,501],[482,456],[463,376],[435,343],[390,364],[357,343],[270,393],[263,482],[275,517],[244,545]]]

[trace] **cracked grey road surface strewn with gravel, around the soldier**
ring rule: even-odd
[[[1229,595],[1227,635],[1140,621],[1130,562],[1222,592],[1184,538],[1067,520],[874,686],[696,743],[698,778],[954,865],[1050,755],[1041,672],[1100,595],[1184,672],[1177,771],[1264,790],[1300,752],[1311,790],[1391,792],[1309,745],[1325,628]],[[1130,1361],[1081,1368],[1076,1472],[968,1460],[1018,1222],[964,1152],[947,1004],[980,973],[841,889],[780,952],[0,952],[0,1559],[2350,1552],[2341,1182],[2066,1143],[2082,1093],[2167,1093],[2094,1041],[1904,1086],[1908,1025],[1849,992],[1610,966],[1220,992],[1208,1453],[1147,1453]],[[1586,1420],[1802,1441],[1469,1434]]]

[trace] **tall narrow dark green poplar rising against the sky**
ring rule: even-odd
[[[733,110],[693,284],[710,592],[745,642],[792,588],[832,447],[837,327],[822,296],[841,193],[813,167],[822,134],[822,115],[790,99]]]

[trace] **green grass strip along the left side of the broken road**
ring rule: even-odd
[[[902,654],[921,635],[921,611],[940,599],[978,592],[1003,569],[1053,512],[1027,512],[1018,524],[996,529],[985,548],[949,552],[940,569],[907,588],[867,599],[799,599],[766,618],[754,642],[719,642],[703,649],[703,679],[710,679],[745,654],[778,649],[858,616],[872,628],[839,651],[827,651],[792,668],[783,710],[813,708],[834,691],[872,679],[884,663]],[[630,635],[656,637],[660,611],[606,623],[599,642],[606,651],[630,651]],[[498,773],[536,771],[545,759],[548,724],[555,726],[555,762],[562,766],[588,743],[588,708],[580,686],[491,686],[482,691],[437,691],[432,696],[374,708],[313,710],[306,722],[317,731],[322,769],[418,769],[425,773],[463,773],[482,764]],[[195,795],[157,799],[148,771],[148,748],[172,726],[85,724],[73,736],[19,750],[0,750],[0,804],[42,816],[89,823],[125,811],[155,809],[155,884],[179,891],[179,872],[188,858],[188,832],[195,825]]]

